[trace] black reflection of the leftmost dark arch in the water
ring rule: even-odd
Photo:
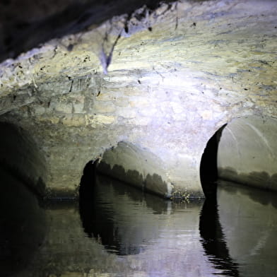
[[[45,239],[45,211],[23,183],[1,167],[0,184],[0,275],[23,276]]]

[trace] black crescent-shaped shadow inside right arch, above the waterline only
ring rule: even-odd
[[[206,148],[200,163],[200,179],[202,189],[207,198],[216,196],[216,181],[218,179],[218,143],[223,129],[227,124],[223,125],[208,140]]]

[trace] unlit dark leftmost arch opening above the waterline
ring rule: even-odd
[[[0,122],[0,167],[39,196],[45,195],[46,165],[37,143],[20,126]]]

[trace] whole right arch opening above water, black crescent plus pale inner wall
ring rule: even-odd
[[[209,139],[201,158],[205,194],[217,178],[277,190],[277,120],[248,116],[232,119]]]

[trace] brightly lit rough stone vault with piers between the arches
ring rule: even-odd
[[[0,64],[1,121],[32,134],[49,194],[76,194],[86,163],[119,141],[151,149],[172,195],[201,193],[223,124],[277,118],[276,5],[182,0],[45,42]]]

